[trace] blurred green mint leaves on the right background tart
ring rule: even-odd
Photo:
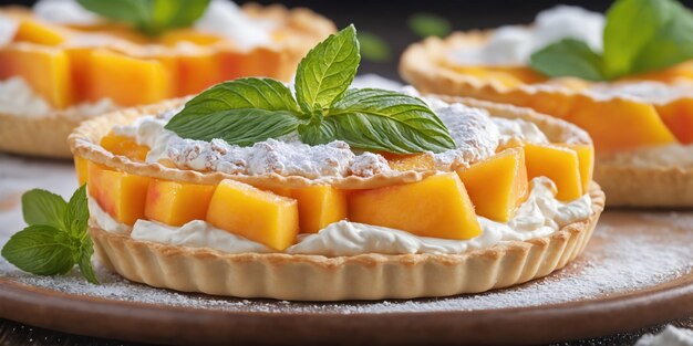
[[[693,12],[675,0],[618,0],[607,12],[603,53],[585,42],[551,43],[530,66],[551,77],[611,81],[693,59]]]

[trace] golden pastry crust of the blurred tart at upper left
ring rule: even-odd
[[[267,56],[262,64],[249,66],[248,74],[267,75],[279,80],[289,80],[296,71],[301,57],[316,42],[335,31],[334,24],[321,15],[303,8],[287,9],[280,4],[262,7],[248,3],[242,10],[250,17],[273,20],[286,28],[286,38],[272,46],[260,46],[249,52],[224,44],[219,50],[238,51],[241,54]],[[294,38],[291,33],[300,33]],[[121,50],[122,48],[116,48]],[[137,55],[137,52],[131,52]],[[66,138],[70,133],[86,117],[68,115],[55,111],[46,116],[32,114],[0,113],[0,151],[11,154],[72,158]]]

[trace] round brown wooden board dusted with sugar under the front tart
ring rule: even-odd
[[[164,344],[524,345],[633,331],[693,315],[693,212],[607,212],[582,258],[518,287],[387,302],[180,294],[100,270],[38,279],[0,264],[0,317]]]

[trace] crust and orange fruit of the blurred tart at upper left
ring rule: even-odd
[[[71,157],[65,139],[89,117],[75,109],[84,104],[153,104],[242,76],[288,81],[308,50],[335,30],[307,9],[247,4],[242,11],[276,25],[270,44],[238,46],[194,29],[148,39],[117,24],[56,25],[24,8],[0,9],[0,15],[18,22],[14,40],[0,46],[0,80],[21,77],[51,109],[0,112],[0,150]],[[106,40],[83,42],[85,34]]]

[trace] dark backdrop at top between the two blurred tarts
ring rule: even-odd
[[[118,0],[104,0],[118,1]],[[237,0],[237,3],[248,1]],[[576,4],[593,11],[603,12],[612,1],[556,1],[556,0],[289,0],[266,1],[260,3],[283,3],[289,8],[308,7],[318,13],[332,19],[339,28],[354,23],[358,30],[374,33],[390,44],[392,54],[389,61],[364,61],[361,73],[379,73],[394,78],[397,76],[396,65],[402,51],[412,42],[418,41],[407,27],[407,19],[414,13],[433,13],[447,19],[455,30],[488,29],[501,24],[529,23],[535,14],[559,3]],[[683,0],[689,8],[693,0]],[[23,3],[33,1],[0,0],[0,4]]]

